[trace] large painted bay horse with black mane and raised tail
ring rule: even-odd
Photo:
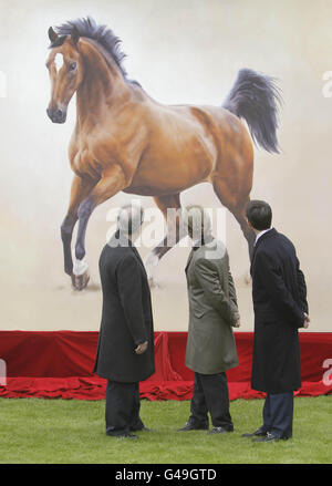
[[[82,290],[89,281],[84,260],[89,218],[120,190],[153,196],[166,218],[167,208],[180,209],[183,190],[209,182],[239,223],[250,252],[255,235],[245,208],[252,187],[252,142],[279,153],[281,96],[274,80],[242,69],[222,106],[165,105],[127,77],[121,41],[106,25],[87,17],[50,27],[49,38],[46,113],[53,123],[65,122],[76,93],[76,125],[69,146],[74,177],[61,226],[64,270],[73,287]],[[169,229],[176,232],[174,245],[184,236],[178,213],[176,229]],[[151,278],[154,266],[172,248],[167,241],[165,237],[148,254]]]

